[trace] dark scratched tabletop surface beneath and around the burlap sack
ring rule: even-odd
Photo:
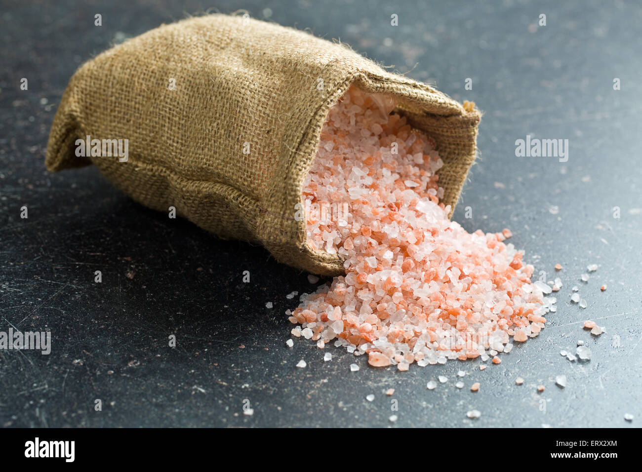
[[[642,7],[635,2],[1,1],[0,331],[51,331],[52,351],[0,351],[0,426],[636,426],[642,421]],[[365,7],[365,8],[364,8]],[[95,168],[44,168],[76,67],[110,44],[205,11],[248,10],[340,38],[485,111],[456,209],[469,231],[509,227],[564,287],[539,338],[500,365],[408,372],[296,338],[286,294],[307,274],[125,197]],[[101,13],[102,26],[94,26]],[[390,15],[399,26],[390,26]],[[546,26],[537,26],[539,14]],[[28,90],[19,88],[28,78]],[[466,78],[473,90],[464,89]],[[613,89],[620,78],[621,90]],[[518,158],[526,135],[569,139],[569,160]],[[28,219],[20,208],[28,207]],[[471,207],[473,218],[465,218]],[[614,207],[620,218],[614,218]],[[600,265],[587,284],[586,265]],[[94,283],[101,270],[103,282]],[[251,282],[243,283],[242,272]],[[588,302],[569,302],[571,286]],[[599,287],[608,289],[600,292]],[[265,303],[272,301],[268,310]],[[607,332],[593,337],[582,322]],[[169,335],[177,347],[168,347]],[[593,351],[571,363],[577,340]],[[308,367],[295,364],[306,360]],[[350,372],[356,362],[358,372]],[[467,372],[466,387],[455,374]],[[568,386],[554,384],[568,376]],[[426,382],[449,378],[436,390]],[[524,385],[514,379],[521,376]],[[482,385],[473,394],[474,381]],[[544,384],[541,394],[535,387]],[[392,397],[383,391],[394,388]],[[372,403],[365,400],[374,394]],[[94,410],[101,399],[102,411]],[[254,415],[243,415],[249,401]],[[247,403],[247,402],[246,402]],[[482,412],[467,419],[471,408]],[[634,414],[632,423],[624,414]]]

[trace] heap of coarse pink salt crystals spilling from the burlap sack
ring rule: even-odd
[[[548,312],[534,268],[503,243],[510,231],[469,234],[447,218],[435,142],[393,106],[352,87],[329,112],[302,196],[321,209],[306,214],[308,245],[341,256],[346,275],[291,322],[402,370],[534,337]]]

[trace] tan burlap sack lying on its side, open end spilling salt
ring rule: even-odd
[[[80,67],[51,126],[46,165],[93,162],[143,205],[173,206],[294,267],[342,274],[336,255],[306,244],[295,204],[328,111],[352,83],[395,96],[410,123],[435,139],[442,201],[455,207],[476,154],[477,110],[340,44],[228,15],[160,26]],[[79,157],[75,141],[87,135],[128,139],[128,161]]]

